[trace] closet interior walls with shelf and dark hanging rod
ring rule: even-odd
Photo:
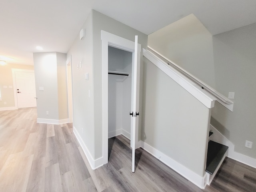
[[[132,53],[108,46],[108,138],[130,139]]]

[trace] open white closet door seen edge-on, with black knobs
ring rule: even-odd
[[[140,90],[140,49],[138,36],[135,36],[134,65],[132,68],[132,112],[131,115],[131,144],[132,144],[132,172],[135,171],[135,147],[138,142],[138,115]]]

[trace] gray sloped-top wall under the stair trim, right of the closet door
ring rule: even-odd
[[[203,177],[210,109],[144,58],[142,141]]]

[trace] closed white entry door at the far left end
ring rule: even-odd
[[[18,108],[36,107],[34,72],[15,71]]]

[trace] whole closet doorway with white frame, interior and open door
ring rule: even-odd
[[[102,31],[103,164],[108,163],[108,138],[123,134],[130,136],[132,172],[138,146],[140,50],[138,36],[133,42]]]

